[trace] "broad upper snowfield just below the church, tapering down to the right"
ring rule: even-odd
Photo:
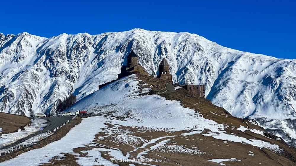
[[[116,124],[144,127],[154,131],[192,130],[183,135],[200,134],[208,130],[209,132],[202,135],[233,142],[245,142],[256,147],[265,146],[274,151],[280,151],[274,144],[226,134],[223,124],[206,119],[192,109],[184,108],[180,101],[166,100],[159,95],[141,96],[139,94],[146,93],[149,89],[140,89],[138,82],[136,75],[121,78],[81,99],[67,111],[86,109],[90,112],[112,111],[116,116],[128,114],[125,121],[117,121]]]

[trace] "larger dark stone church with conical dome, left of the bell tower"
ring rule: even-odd
[[[141,74],[141,75],[149,75],[146,70],[139,64],[138,56],[133,50],[128,54],[127,57],[127,65],[124,65],[120,69],[120,74],[118,74],[118,78],[122,78],[127,75],[131,75],[133,73]]]

